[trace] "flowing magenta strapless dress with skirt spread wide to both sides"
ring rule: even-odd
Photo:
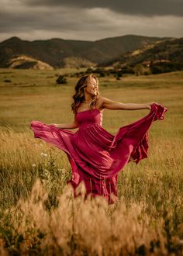
[[[30,127],[35,138],[45,140],[67,154],[72,169],[72,178],[67,184],[72,185],[74,193],[83,181],[86,197],[89,194],[91,197],[104,196],[112,203],[118,196],[119,171],[129,161],[137,164],[147,158],[150,125],[157,119],[164,119],[166,111],[166,107],[154,103],[147,116],[120,127],[115,135],[102,127],[102,112],[96,108],[75,115],[76,132],[37,120],[33,120]]]

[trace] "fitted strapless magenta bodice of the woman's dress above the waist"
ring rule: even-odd
[[[76,120],[79,128],[88,126],[91,124],[98,124],[102,126],[102,112],[99,109],[88,109],[85,111],[77,112]]]

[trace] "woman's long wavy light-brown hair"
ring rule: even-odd
[[[85,76],[82,76],[78,83],[75,85],[75,93],[72,96],[74,99],[74,102],[71,105],[71,109],[74,113],[77,112],[78,106],[85,100],[85,87],[87,87],[88,82],[91,81],[91,78],[95,78],[97,86],[98,86],[98,78],[95,76],[95,74],[88,74]],[[98,98],[99,91],[97,89],[97,94],[93,97],[93,99],[90,102],[90,109],[92,109],[92,106],[95,105],[95,102]]]

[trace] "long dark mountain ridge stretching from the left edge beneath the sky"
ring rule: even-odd
[[[21,40],[11,37],[0,43],[0,67],[7,67],[13,57],[32,57],[49,64],[51,67],[65,67],[68,58],[81,60],[87,66],[111,61],[120,55],[140,49],[150,43],[167,40],[167,38],[148,36],[118,36],[96,41],[82,40]],[[73,59],[72,59],[73,64]]]

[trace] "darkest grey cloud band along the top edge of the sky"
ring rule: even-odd
[[[182,16],[182,0],[24,0],[29,5],[107,8],[114,12],[142,16]]]

